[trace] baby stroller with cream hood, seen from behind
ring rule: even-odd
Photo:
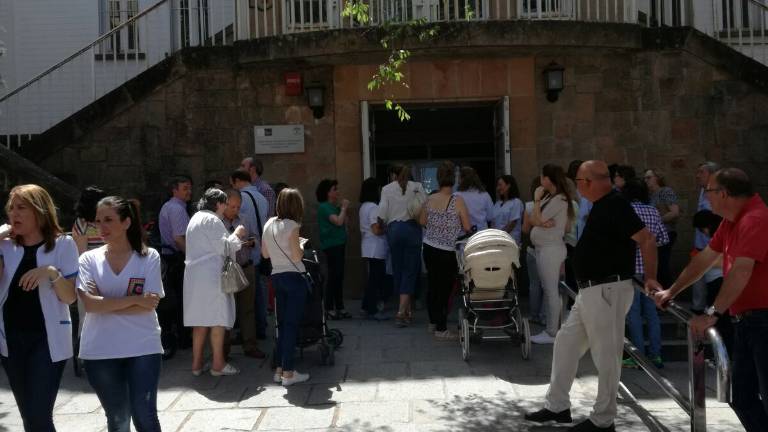
[[[520,342],[531,354],[531,330],[517,299],[514,269],[520,250],[508,233],[487,229],[456,242],[463,304],[459,308],[461,356],[469,359],[470,339]]]

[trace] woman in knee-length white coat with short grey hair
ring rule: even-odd
[[[240,225],[229,234],[222,222],[227,194],[208,189],[197,204],[199,210],[187,226],[187,266],[184,271],[184,326],[192,329],[192,374],[204,372],[203,349],[210,330],[213,363],[211,375],[236,375],[240,370],[226,362],[224,336],[235,323],[234,294],[221,291],[224,254],[234,259],[247,235]],[[228,246],[228,247],[227,247]]]

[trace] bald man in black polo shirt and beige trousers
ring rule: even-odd
[[[605,162],[584,162],[575,181],[581,196],[594,203],[573,255],[579,294],[555,338],[545,408],[525,418],[572,421],[569,391],[579,359],[590,350],[598,371],[597,400],[589,418],[569,430],[614,431],[624,319],[634,295],[635,248],[639,245],[643,255],[646,292],[654,292],[661,289],[656,281],[656,241],[629,202],[611,190]]]

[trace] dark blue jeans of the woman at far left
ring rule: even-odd
[[[19,407],[24,430],[55,432],[53,405],[67,361],[51,361],[45,332],[9,331],[6,336],[8,357],[0,357],[0,360]]]

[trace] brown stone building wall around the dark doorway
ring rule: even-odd
[[[405,70],[410,86],[393,89],[396,100],[509,97],[511,171],[521,191],[543,164],[565,166],[576,158],[665,171],[683,209],[678,264],[692,243],[698,163],[741,167],[763,196],[768,192],[768,86],[758,73],[765,68],[695,31],[460,23],[441,28],[436,40],[406,45],[414,54]],[[385,97],[367,89],[384,55],[376,35],[351,30],[182,52],[162,65],[162,73],[140,76],[110,96],[119,103],[80,113],[43,136],[50,151],[30,157],[71,184],[137,196],[151,212],[174,173],[191,175],[198,186],[226,179],[252,152],[253,126],[303,124],[304,153],[262,160],[268,181],[302,191],[306,235],[316,238],[320,179],[337,178],[342,195],[356,201],[363,180],[360,104]],[[552,61],[566,75],[554,103],[546,100],[542,82]],[[325,85],[322,118],[313,117],[303,96],[285,96],[290,71]],[[348,247],[352,295],[362,286],[356,221],[351,218]]]

